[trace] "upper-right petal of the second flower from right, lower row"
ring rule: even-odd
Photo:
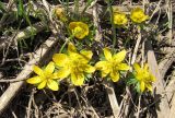
[[[120,52],[114,55],[113,59],[114,59],[116,62],[121,62],[121,61],[125,59],[126,54],[127,54],[126,50],[121,50]]]

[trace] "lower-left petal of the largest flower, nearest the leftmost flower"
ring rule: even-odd
[[[59,79],[65,79],[70,74],[70,69],[69,68],[62,68],[57,72],[57,76]]]

